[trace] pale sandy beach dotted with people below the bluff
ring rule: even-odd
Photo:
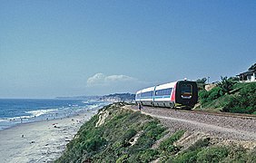
[[[0,162],[52,162],[97,110],[59,120],[17,125],[0,131]]]

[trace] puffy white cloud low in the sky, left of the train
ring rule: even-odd
[[[136,82],[137,79],[126,76],[126,75],[109,75],[106,76],[103,73],[96,73],[94,76],[88,78],[87,80],[87,86],[109,86],[113,83],[120,83],[120,82]]]

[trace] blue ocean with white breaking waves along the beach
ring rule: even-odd
[[[5,100],[0,99],[0,130],[38,120],[53,120],[97,111],[107,101],[86,100]]]

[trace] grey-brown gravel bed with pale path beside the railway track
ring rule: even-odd
[[[135,108],[133,108],[135,109]],[[256,119],[229,117],[190,110],[143,107],[142,112],[162,121],[172,131],[200,131],[222,139],[256,140]]]

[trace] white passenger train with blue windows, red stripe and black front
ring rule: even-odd
[[[192,109],[198,101],[196,82],[177,81],[165,83],[136,92],[137,104]]]

